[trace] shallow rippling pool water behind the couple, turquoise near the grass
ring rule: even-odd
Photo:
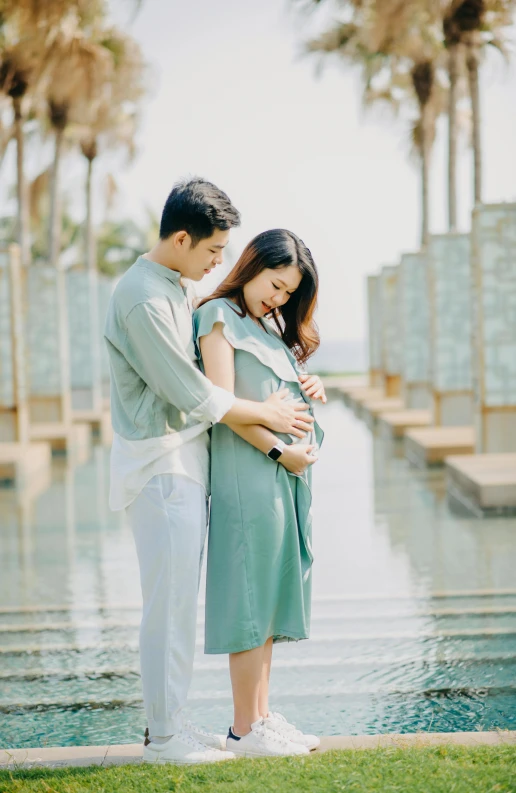
[[[340,402],[318,409],[312,637],[274,651],[272,703],[320,734],[516,729],[516,518],[447,503]],[[0,490],[0,747],[139,741],[140,592],[109,453]],[[203,592],[201,586],[202,599]],[[226,656],[202,652],[188,717],[225,732]]]

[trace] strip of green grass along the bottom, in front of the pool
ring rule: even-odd
[[[2,793],[514,793],[516,747],[333,751],[210,766],[0,771]]]

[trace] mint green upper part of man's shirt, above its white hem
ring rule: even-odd
[[[104,338],[114,431],[159,438],[215,424],[235,397],[199,370],[192,337],[192,287],[181,274],[140,256],[118,282]]]

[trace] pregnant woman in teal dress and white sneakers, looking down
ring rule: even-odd
[[[194,313],[207,377],[245,399],[286,388],[293,399],[326,401],[319,378],[300,368],[319,346],[317,289],[298,237],[283,229],[255,237]],[[273,642],[309,634],[310,466],[323,436],[313,426],[302,438],[259,426],[212,429],[205,652],[230,655],[227,748],[238,755],[306,754],[319,743],[268,705]]]

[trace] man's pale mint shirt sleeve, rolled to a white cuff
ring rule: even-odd
[[[161,301],[138,303],[126,327],[128,360],[151,391],[197,421],[216,423],[227,413],[234,394],[214,386],[194,365]]]

